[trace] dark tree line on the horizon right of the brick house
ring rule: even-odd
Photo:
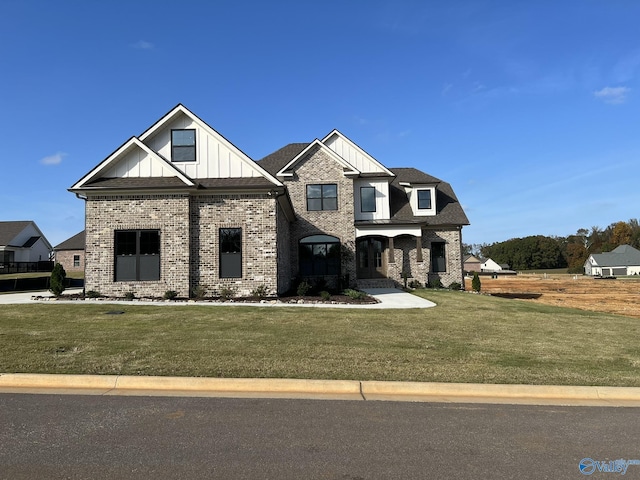
[[[569,273],[582,273],[589,255],[610,252],[619,245],[640,249],[638,219],[612,223],[604,229],[580,228],[566,237],[533,235],[492,244],[464,244],[463,249],[465,255],[491,258],[512,270],[566,268]]]

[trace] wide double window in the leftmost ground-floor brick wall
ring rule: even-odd
[[[160,280],[159,230],[116,231],[115,253],[116,282]]]

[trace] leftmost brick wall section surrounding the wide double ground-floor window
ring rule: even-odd
[[[138,297],[168,290],[189,295],[189,197],[187,195],[89,196],[86,209],[85,291]],[[114,281],[116,230],[160,230],[160,280]]]

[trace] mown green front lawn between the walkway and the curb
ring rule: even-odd
[[[640,386],[637,319],[418,294],[438,307],[5,305],[0,371]]]

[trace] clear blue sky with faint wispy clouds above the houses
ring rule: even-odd
[[[465,243],[640,217],[636,0],[0,0],[2,220],[52,244],[67,192],[178,103],[260,159],[337,128],[448,181]]]

